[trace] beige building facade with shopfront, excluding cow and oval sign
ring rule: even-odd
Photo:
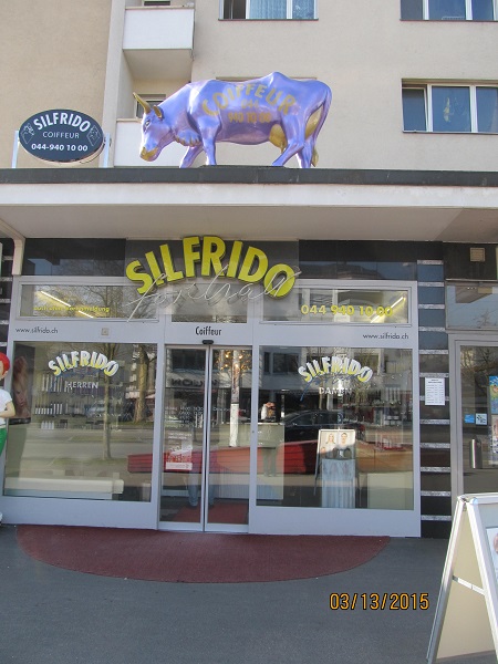
[[[497,12],[0,7],[4,519],[445,536],[496,490]],[[318,167],[141,158],[134,92],[271,72],[332,90]],[[94,159],[20,145],[53,110],[102,127]]]

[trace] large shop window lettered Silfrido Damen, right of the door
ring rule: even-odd
[[[294,347],[289,356],[297,370],[261,377],[258,505],[412,510],[412,351]]]

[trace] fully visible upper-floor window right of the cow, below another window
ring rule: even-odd
[[[404,85],[405,132],[498,133],[498,87]]]

